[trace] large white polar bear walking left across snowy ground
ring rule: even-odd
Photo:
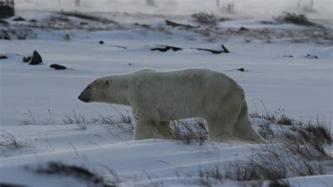
[[[207,120],[210,141],[263,142],[249,120],[243,89],[214,70],[143,69],[99,77],[78,98],[131,106],[134,140],[172,138],[171,120],[200,117]]]

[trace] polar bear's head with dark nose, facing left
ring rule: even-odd
[[[86,89],[79,95],[79,100],[85,103],[100,102],[105,103],[110,97],[110,77],[100,77],[86,86]]]

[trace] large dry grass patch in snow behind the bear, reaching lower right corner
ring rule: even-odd
[[[315,121],[302,122],[288,117],[284,112],[278,113],[281,115],[271,115],[268,112],[266,115],[259,115],[258,112],[252,114],[252,117],[266,120],[259,126],[259,133],[265,138],[269,137],[266,138],[270,140],[269,143],[259,150],[253,150],[254,154],[249,160],[230,162],[224,165],[223,169],[216,165],[214,169],[200,171],[199,182],[272,181],[270,186],[289,186],[284,179],[331,172],[333,157],[325,149],[327,144],[332,143],[329,123],[320,117]],[[271,123],[279,120],[284,122]],[[279,130],[273,131],[272,126]],[[292,128],[289,128],[290,126]]]

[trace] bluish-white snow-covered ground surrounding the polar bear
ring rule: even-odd
[[[223,168],[235,160],[248,160],[263,146],[245,143],[198,146],[159,139],[131,141],[131,131],[110,124],[89,121],[83,129],[77,124],[65,124],[66,116],[73,117],[74,113],[86,119],[98,117],[98,114],[112,117],[119,117],[119,112],[131,114],[130,108],[124,106],[86,104],[77,99],[86,84],[102,75],[132,72],[143,67],[157,70],[207,67],[226,73],[244,88],[249,112],[281,109],[295,119],[315,120],[318,115],[328,121],[332,118],[333,46],[329,37],[313,34],[321,33],[321,28],[266,25],[258,19],[237,19],[219,22],[218,29],[209,30],[207,36],[202,32],[205,28],[193,32],[164,23],[169,19],[196,25],[188,15],[93,13],[112,18],[121,22],[120,25],[72,17],[70,23],[56,23],[50,18],[59,15],[49,12],[25,10],[21,15],[37,22],[7,19],[10,25],[0,25],[0,30],[11,31],[14,38],[0,40],[0,54],[8,57],[0,59],[0,143],[13,134],[22,144],[22,148],[0,147],[2,183],[85,186],[86,183],[75,177],[32,172],[49,161],[61,161],[86,167],[110,180],[115,180],[115,175],[108,169],[114,169],[123,186],[152,183],[200,186],[203,184],[197,178],[199,171],[214,169],[216,165]],[[137,18],[138,15],[141,17]],[[80,26],[79,22],[89,25]],[[134,22],[150,24],[150,27],[133,25]],[[47,29],[46,25],[53,29]],[[68,25],[74,26],[70,30]],[[93,27],[92,31],[89,27]],[[249,31],[240,32],[239,27],[247,27]],[[27,34],[26,39],[15,39],[13,30]],[[327,28],[327,33],[332,30]],[[69,38],[64,37],[65,34]],[[99,44],[100,40],[104,44]],[[179,46],[183,50],[150,51],[157,44]],[[220,50],[221,44],[230,53],[212,54],[191,49]],[[22,63],[23,56],[34,50],[41,54],[43,64]],[[318,58],[305,58],[308,55]],[[53,70],[48,67],[53,63],[70,69]],[[244,72],[237,70],[241,67]],[[254,122],[259,128],[258,120]],[[23,125],[27,123],[30,125]],[[332,122],[329,123],[333,128]],[[328,152],[332,150],[332,146],[327,146]],[[332,166],[332,160],[330,162]],[[296,186],[305,183],[329,186],[333,183],[332,167],[327,170],[325,175],[288,180]],[[212,184],[237,186],[240,183],[226,180]],[[268,184],[263,183],[265,185]]]

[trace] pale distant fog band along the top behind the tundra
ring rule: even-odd
[[[267,18],[283,11],[307,13],[311,18],[332,20],[333,0],[16,0],[15,8],[20,11],[102,11],[150,14],[188,15],[198,11],[214,12],[247,18]]]

